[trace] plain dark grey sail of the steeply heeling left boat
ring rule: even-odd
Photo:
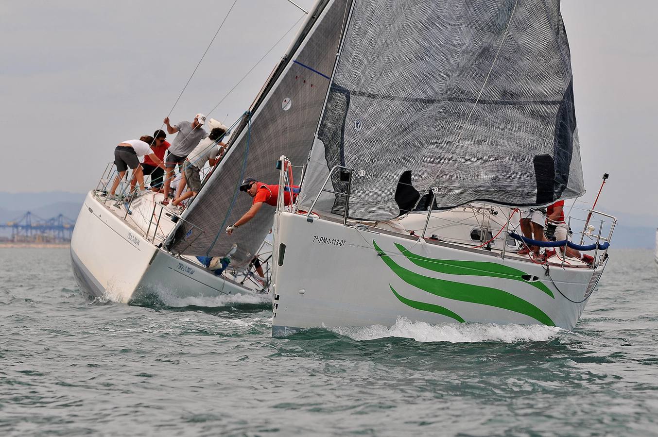
[[[274,208],[263,204],[255,218],[226,235],[224,229],[238,221],[252,204],[252,198],[239,192],[238,187],[245,177],[278,183],[276,161],[282,154],[293,163],[307,160],[336,62],[345,2],[320,1],[311,11],[307,26],[312,27],[301,35],[297,48],[293,44],[278,78],[275,71],[270,80],[274,86],[267,89],[266,85],[265,94],[252,106],[251,129],[245,126],[247,118],[238,127],[242,130],[236,141],[183,216],[188,223],[181,222],[176,229],[170,242],[172,252],[222,256],[237,243],[232,265],[253,258],[272,227]],[[290,106],[284,101],[290,101]]]

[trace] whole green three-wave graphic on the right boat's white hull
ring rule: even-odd
[[[434,294],[435,296],[440,296],[443,298],[447,299],[453,299],[453,300],[460,300],[461,302],[470,302],[472,304],[482,304],[486,306],[493,306],[496,308],[502,308],[503,310],[509,310],[509,311],[514,311],[515,313],[520,313],[520,314],[525,314],[533,319],[539,321],[540,323],[543,323],[544,325],[547,326],[555,326],[555,323],[553,320],[551,320],[544,311],[540,310],[530,302],[523,300],[522,298],[519,298],[518,296],[515,296],[514,294],[511,294],[509,292],[499,290],[497,288],[492,288],[492,287],[484,287],[482,285],[472,285],[472,284],[465,284],[465,283],[459,283],[459,282],[454,282],[454,281],[447,281],[445,279],[437,279],[437,278],[432,278],[432,277],[426,277],[423,275],[420,275],[419,273],[416,273],[415,271],[411,271],[408,269],[405,269],[405,267],[402,267],[401,265],[397,265],[390,256],[388,256],[378,245],[377,243],[373,240],[372,244],[374,244],[375,250],[378,252],[379,256],[384,260],[384,263],[388,265],[388,267],[397,275],[400,279],[405,281],[405,283],[409,285],[413,285],[413,287],[420,288],[420,290],[424,290],[430,294]],[[509,272],[507,272],[505,275],[501,273],[500,271],[493,271],[491,269],[491,266],[484,266],[485,269],[482,270],[480,268],[474,268],[474,267],[479,267],[477,265],[478,262],[459,262],[459,261],[444,261],[444,260],[432,260],[432,258],[424,258],[420,257],[414,254],[411,254],[409,250],[404,248],[404,246],[398,246],[398,249],[400,249],[400,252],[405,254],[407,258],[409,256],[415,257],[415,260],[420,263],[425,263],[426,265],[432,265],[435,268],[441,269],[441,270],[436,270],[434,268],[430,268],[432,271],[441,271],[442,273],[449,273],[453,275],[477,275],[477,276],[495,276],[495,277],[508,277],[508,279],[514,279],[509,277]],[[411,260],[411,258],[409,258]],[[429,261],[424,261],[424,260],[429,260]],[[412,260],[412,262],[414,262]],[[414,262],[414,264],[417,264],[417,262]],[[430,263],[431,262],[431,263]],[[452,271],[455,271],[453,269],[459,269],[460,264],[462,263],[469,263],[466,264],[468,267],[467,270],[461,271],[460,273],[452,273]],[[482,263],[482,264],[493,264],[493,263]],[[420,265],[420,264],[417,264]],[[424,265],[421,265],[421,267],[424,267]],[[503,266],[505,267],[505,266]],[[472,269],[472,270],[471,270]],[[445,271],[448,270],[448,271]],[[515,270],[516,269],[512,269]],[[478,271],[481,273],[475,274],[474,272]],[[521,272],[522,273],[522,272]],[[520,278],[519,278],[520,279]],[[522,281],[522,279],[520,279]],[[526,282],[526,281],[524,281]],[[526,282],[527,283],[527,282]],[[534,285],[532,283],[528,283],[528,285]],[[539,287],[538,287],[539,288]],[[541,289],[541,288],[540,288]],[[461,319],[459,315],[453,313],[450,310],[447,310],[447,308],[443,308],[440,306],[432,305],[432,304],[424,304],[424,302],[417,302],[414,300],[409,300],[407,298],[403,298],[403,296],[400,296],[395,290],[393,290],[393,287],[391,287],[391,290],[393,291],[393,294],[403,302],[403,304],[411,306],[412,308],[417,308],[418,310],[423,310],[423,311],[432,311],[436,313],[441,313],[444,315],[448,315],[448,317],[452,317],[455,320]],[[544,290],[542,290],[544,291]],[[550,291],[550,290],[549,290]],[[545,291],[544,291],[545,292]],[[552,293],[551,293],[552,295]],[[425,309],[425,308],[420,308],[422,307],[422,304],[427,305],[429,307],[426,308],[431,308],[431,309]],[[449,313],[457,316],[453,317],[453,315],[449,315],[445,313],[445,311],[449,311]],[[459,317],[459,318],[458,318]],[[463,320],[463,319],[462,319]]]

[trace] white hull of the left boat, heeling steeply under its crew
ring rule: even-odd
[[[80,288],[114,302],[254,293],[157,248],[92,193],[78,215],[70,254]]]

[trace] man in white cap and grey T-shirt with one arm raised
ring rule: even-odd
[[[166,166],[166,177],[164,180],[164,204],[169,203],[169,181],[174,172],[174,167],[178,164],[181,172],[183,171],[183,164],[185,159],[188,157],[188,154],[199,144],[199,141],[208,136],[208,133],[203,129],[203,124],[205,124],[205,115],[197,114],[194,117],[193,122],[178,122],[174,126],[169,124],[169,118],[164,119],[164,124],[166,125],[166,130],[168,133],[177,133],[174,141],[169,147],[168,153],[165,159]],[[177,195],[180,196],[180,192],[183,191],[184,184],[178,186]]]

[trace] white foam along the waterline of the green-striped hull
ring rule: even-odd
[[[496,325],[483,323],[445,323],[430,325],[426,322],[412,322],[407,317],[397,317],[395,324],[372,325],[365,328],[329,328],[334,333],[353,340],[375,340],[384,337],[413,338],[419,342],[538,342],[555,338],[560,328],[544,325]]]

